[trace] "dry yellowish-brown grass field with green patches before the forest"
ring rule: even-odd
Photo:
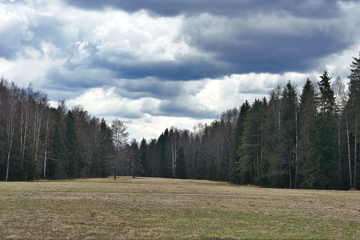
[[[360,192],[131,177],[0,182],[0,239],[360,239]]]

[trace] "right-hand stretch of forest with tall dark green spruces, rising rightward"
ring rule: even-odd
[[[301,92],[288,81],[268,98],[244,102],[193,131],[172,126],[140,143],[147,177],[194,178],[276,188],[359,188],[360,60],[348,88],[306,80]]]

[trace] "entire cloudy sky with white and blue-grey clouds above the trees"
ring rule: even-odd
[[[0,74],[140,141],[288,80],[346,82],[359,16],[359,1],[0,0]]]

